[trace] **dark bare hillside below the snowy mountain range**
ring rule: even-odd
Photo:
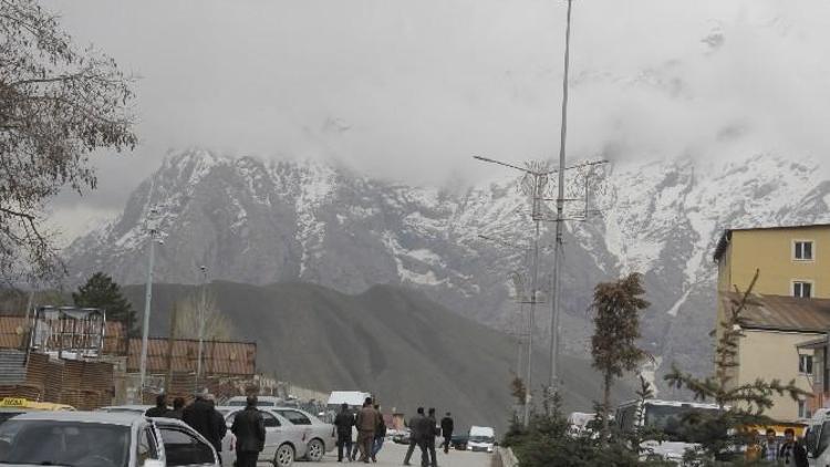
[[[198,289],[158,284],[151,332],[165,335],[173,302]],[[459,425],[505,427],[516,343],[400,287],[347,295],[308,283],[209,286],[238,339],[258,344],[259,371],[310,388],[362,390],[386,408],[452,411]],[[137,310],[144,288],[125,288]],[[587,361],[564,356],[569,408],[588,409],[600,380]],[[537,355],[539,376],[546,374]],[[539,387],[538,385],[535,385]]]

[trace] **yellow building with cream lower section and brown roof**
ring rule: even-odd
[[[733,383],[757,378],[795,380],[813,392],[813,349],[830,329],[830,225],[726,230],[715,250],[718,264],[717,335],[737,287],[745,291],[756,270],[758,280],[738,349]],[[826,360],[822,360],[822,362]],[[809,416],[817,402],[776,397],[767,415],[781,422]]]

